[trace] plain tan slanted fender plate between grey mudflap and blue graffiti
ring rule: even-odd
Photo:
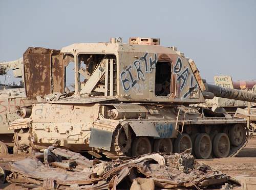
[[[131,121],[129,122],[136,136],[159,137],[156,127],[151,122]]]

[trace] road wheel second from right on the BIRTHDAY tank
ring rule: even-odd
[[[214,138],[214,154],[217,158],[227,157],[230,150],[228,135],[224,132],[216,134]]]

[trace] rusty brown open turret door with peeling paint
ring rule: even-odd
[[[63,93],[64,70],[58,50],[29,47],[24,53],[25,88],[28,99],[36,99],[36,95],[44,96],[53,91]]]

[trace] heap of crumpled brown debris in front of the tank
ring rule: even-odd
[[[10,162],[9,170],[8,182],[45,189],[198,188],[221,185],[230,179],[199,164],[188,153],[151,153],[129,160],[102,161],[54,147]]]

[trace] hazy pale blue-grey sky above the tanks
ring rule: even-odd
[[[28,47],[136,36],[177,46],[208,82],[220,73],[256,79],[256,1],[0,0],[0,61]]]

